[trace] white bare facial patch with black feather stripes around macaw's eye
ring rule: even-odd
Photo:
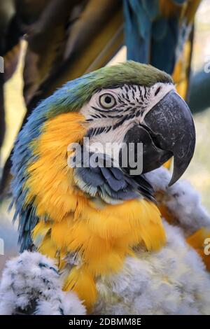
[[[146,114],[171,90],[175,90],[172,83],[155,83],[152,87],[122,85],[96,92],[80,109],[87,120],[90,151],[104,153],[109,143],[115,144],[117,154],[130,127],[142,123]],[[108,149],[106,154],[113,157],[113,151]]]

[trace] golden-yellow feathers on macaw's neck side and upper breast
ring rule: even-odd
[[[144,199],[122,204],[97,204],[77,190],[73,169],[67,165],[67,146],[85,135],[84,118],[66,113],[45,124],[32,145],[38,160],[29,166],[27,202],[34,200],[40,217],[33,239],[38,251],[57,260],[66,273],[64,290],[75,290],[87,309],[97,299],[95,279],[118,272],[132,248],[144,244],[148,251],[165,244],[160,212]],[[43,221],[48,214],[48,221]],[[75,254],[70,269],[65,257]]]

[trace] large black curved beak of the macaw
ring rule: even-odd
[[[174,155],[172,186],[186,171],[195,150],[195,126],[186,102],[169,92],[125,135],[126,143],[143,143],[143,172],[157,169]]]

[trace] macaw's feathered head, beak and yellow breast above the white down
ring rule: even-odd
[[[69,166],[76,157],[69,144],[84,154],[84,138],[102,160],[97,167],[85,165],[85,157],[80,167]],[[114,142],[119,156],[95,147]],[[130,143],[138,157],[136,146],[143,143],[139,175],[118,160]],[[174,155],[172,185],[194,148],[193,118],[167,73],[128,61],[69,81],[34,109],[15,142],[12,189],[21,251],[54,258],[63,289],[75,291],[91,311],[98,277],[118,273],[139,246],[157,251],[165,244],[145,173]],[[105,155],[111,166],[104,166]]]

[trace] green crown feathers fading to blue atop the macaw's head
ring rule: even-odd
[[[41,102],[36,111],[48,119],[59,113],[79,111],[85,103],[89,102],[92,94],[102,88],[112,88],[123,84],[151,87],[158,82],[173,83],[173,80],[167,73],[155,69],[151,65],[133,61],[105,66],[69,81],[52,96]]]

